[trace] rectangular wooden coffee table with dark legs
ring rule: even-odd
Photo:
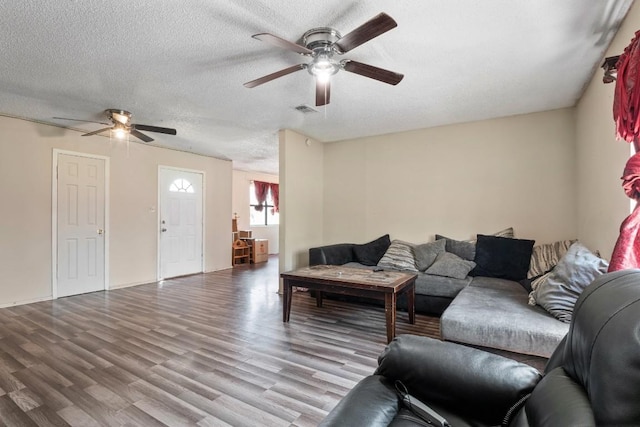
[[[291,296],[294,286],[316,291],[316,303],[322,307],[323,292],[353,295],[384,300],[387,321],[387,342],[396,335],[396,300],[407,293],[409,323],[415,323],[416,274],[399,271],[372,271],[335,265],[316,265],[280,274],[284,281],[282,321],[288,322],[291,314]]]

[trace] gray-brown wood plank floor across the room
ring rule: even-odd
[[[315,426],[375,369],[384,310],[296,292],[284,324],[277,289],[272,257],[0,309],[0,425]]]

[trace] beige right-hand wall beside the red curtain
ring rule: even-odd
[[[605,56],[620,55],[640,28],[640,4],[635,3]],[[590,248],[609,258],[630,201],[620,186],[629,158],[628,143],[615,140],[613,92],[597,69],[576,108],[578,159],[578,235]]]

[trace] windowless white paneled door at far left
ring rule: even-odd
[[[58,154],[54,297],[104,290],[105,160]]]

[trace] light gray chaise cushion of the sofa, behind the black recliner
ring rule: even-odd
[[[569,325],[527,304],[517,282],[474,277],[440,318],[442,338],[465,344],[549,357]]]

